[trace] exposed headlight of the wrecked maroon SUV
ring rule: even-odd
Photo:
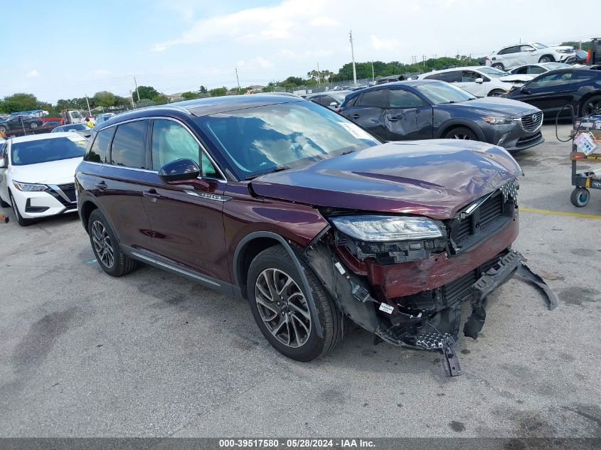
[[[440,227],[427,218],[354,215],[331,218],[331,222],[345,235],[366,242],[442,237]]]

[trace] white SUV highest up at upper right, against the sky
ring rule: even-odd
[[[509,70],[519,65],[534,63],[570,63],[576,60],[573,47],[549,47],[540,42],[508,45],[486,56],[486,65],[500,70]]]

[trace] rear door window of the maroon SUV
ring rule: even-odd
[[[112,140],[111,164],[132,168],[148,168],[144,140],[145,120],[128,122],[117,127]]]

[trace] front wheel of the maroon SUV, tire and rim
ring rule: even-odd
[[[276,245],[252,260],[248,300],[261,333],[277,351],[293,360],[311,361],[339,344],[343,317],[312,269],[300,264],[312,299],[288,252]]]

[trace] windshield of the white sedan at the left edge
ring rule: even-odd
[[[87,139],[79,135],[15,142],[11,146],[11,162],[13,166],[27,166],[60,159],[82,158],[86,144]]]

